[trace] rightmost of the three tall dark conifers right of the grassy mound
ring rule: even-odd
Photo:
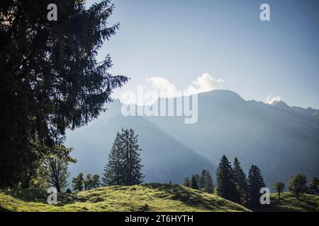
[[[250,206],[260,205],[260,196],[262,196],[260,189],[265,186],[260,169],[256,165],[252,165],[248,174],[248,202]]]

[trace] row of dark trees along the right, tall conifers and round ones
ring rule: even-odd
[[[297,199],[299,199],[299,194],[301,193],[319,194],[317,177],[310,179],[309,186],[306,184],[306,174],[295,174],[289,179],[288,188]],[[262,195],[260,194],[260,189],[266,187],[266,184],[257,165],[250,167],[248,177],[246,177],[237,157],[235,157],[232,166],[228,158],[223,155],[216,170],[216,186],[213,185],[213,179],[207,169],[203,169],[201,175],[193,174],[191,179],[186,177],[184,186],[211,194],[214,193],[245,206],[257,207],[260,205],[259,198]],[[284,183],[275,182],[273,189],[280,198],[280,193],[284,191]]]

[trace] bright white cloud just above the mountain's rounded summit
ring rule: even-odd
[[[194,95],[198,93],[208,92],[219,89],[223,86],[222,78],[213,78],[209,73],[204,73],[202,76],[196,78],[195,81],[189,85],[189,88],[184,90],[185,95]]]

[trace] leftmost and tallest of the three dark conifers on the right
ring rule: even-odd
[[[228,158],[225,155],[223,155],[220,159],[220,163],[216,171],[216,194],[230,201],[237,203],[240,201],[240,194],[237,190],[235,174]]]

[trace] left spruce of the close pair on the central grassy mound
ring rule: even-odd
[[[112,149],[108,155],[108,163],[104,169],[102,182],[103,185],[123,185],[123,148],[121,144],[121,135],[116,133]]]

